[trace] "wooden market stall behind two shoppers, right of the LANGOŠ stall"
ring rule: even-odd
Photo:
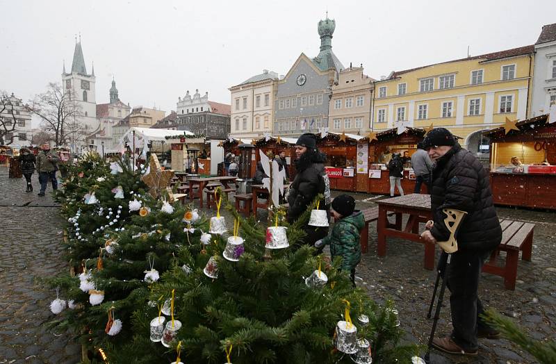
[[[371,140],[368,144],[368,174],[366,175],[366,192],[389,195],[390,194],[390,174],[387,166],[392,158],[393,153],[399,153],[401,156],[411,157],[417,150],[417,143],[422,141],[425,135],[424,129],[406,128],[406,130],[398,134],[398,129],[389,129],[376,133],[376,140]],[[368,142],[369,137],[366,136],[360,142]],[[404,164],[404,172],[402,178],[402,189],[404,194],[413,193],[415,189],[416,176],[411,169],[411,162]],[[358,190],[364,181],[358,182]],[[427,186],[423,183],[421,193],[427,193]],[[398,189],[395,194],[399,195]]]

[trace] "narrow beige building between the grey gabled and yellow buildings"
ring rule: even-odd
[[[370,130],[373,81],[363,74],[363,67],[349,67],[338,74],[332,85],[328,110],[329,131],[366,135]]]

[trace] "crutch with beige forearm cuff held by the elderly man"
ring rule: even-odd
[[[430,331],[429,342],[427,345],[427,354],[425,354],[425,363],[429,363],[430,360],[430,349],[432,348],[432,340],[434,339],[436,324],[438,324],[440,317],[440,308],[444,299],[444,291],[446,289],[446,277],[448,274],[448,269],[450,267],[450,260],[452,259],[452,253],[457,251],[457,241],[455,237],[457,234],[457,230],[459,229],[459,225],[464,220],[464,217],[467,215],[467,213],[464,211],[453,210],[450,208],[444,208],[442,211],[446,215],[444,224],[446,228],[448,228],[448,231],[450,231],[450,238],[448,238],[448,240],[445,242],[436,243],[443,249],[443,251],[448,254],[448,258],[446,259],[446,265],[444,267],[444,276],[442,278],[442,285],[440,287],[439,299],[436,302],[436,311],[434,312],[434,320],[432,322],[432,329]],[[432,307],[434,306],[434,298],[436,297],[436,290],[439,286],[440,276],[441,270],[438,270],[438,273],[436,274],[436,282],[434,283],[434,291],[432,292],[432,299],[430,301],[429,312],[427,313],[427,318],[430,318],[430,314],[432,313]]]

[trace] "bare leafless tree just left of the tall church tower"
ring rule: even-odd
[[[85,125],[79,122],[81,108],[70,91],[59,83],[49,83],[47,92],[30,101],[31,112],[38,115],[44,131],[52,135],[57,146],[76,142],[85,136]]]

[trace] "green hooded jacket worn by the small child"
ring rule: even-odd
[[[332,259],[342,257],[342,270],[350,271],[361,261],[361,245],[359,236],[365,226],[365,217],[361,211],[355,211],[350,216],[343,217],[334,224],[332,233],[322,239],[325,245],[330,245]]]

